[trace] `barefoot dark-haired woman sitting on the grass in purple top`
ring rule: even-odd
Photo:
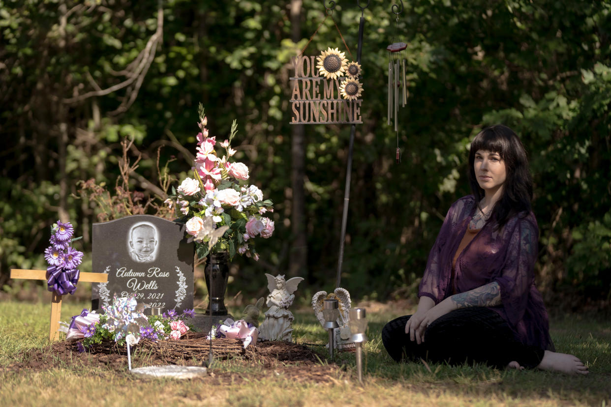
[[[535,287],[538,226],[532,180],[518,136],[484,129],[471,143],[473,195],[452,204],[429,254],[418,309],[390,321],[384,347],[395,361],[420,358],[587,374],[557,353]]]

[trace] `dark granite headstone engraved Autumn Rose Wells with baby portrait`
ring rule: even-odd
[[[92,271],[108,274],[108,283],[92,286],[95,311],[102,312],[115,293],[134,293],[139,303],[179,314],[193,308],[195,249],[182,223],[151,215],[94,223],[92,243]]]

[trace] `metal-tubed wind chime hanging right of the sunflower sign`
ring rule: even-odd
[[[395,11],[395,4],[392,6],[392,12],[397,15],[395,21],[395,31],[397,32],[398,42],[393,42],[386,47],[388,51],[388,125],[392,126],[392,120],[395,121],[395,131],[397,132],[397,163],[401,162],[401,149],[399,148],[399,103],[401,107],[405,107],[408,101],[407,83],[405,80],[405,49],[408,45],[401,41],[398,37],[399,31],[399,14],[403,11],[403,3],[399,11]],[[395,37],[392,38],[395,40]]]

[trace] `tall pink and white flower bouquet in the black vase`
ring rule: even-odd
[[[248,167],[232,162],[236,121],[233,120],[229,139],[217,142],[206,127],[208,119],[202,104],[199,120],[193,178],[185,178],[177,189],[172,187],[172,195],[165,202],[182,212],[181,220],[196,242],[199,258],[227,251],[229,258],[238,253],[258,260],[254,239],[267,239],[274,232],[273,220],[265,216],[273,212],[273,203],[263,199],[256,185],[246,182]],[[219,146],[224,150],[221,157],[216,151]]]

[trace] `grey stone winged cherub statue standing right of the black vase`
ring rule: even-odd
[[[284,275],[274,277],[265,273],[268,279],[269,295],[267,297],[268,311],[265,312],[265,320],[259,327],[259,337],[268,340],[291,340],[291,322],[293,314],[288,307],[293,304],[297,286],[303,278],[293,277],[285,281]]]

